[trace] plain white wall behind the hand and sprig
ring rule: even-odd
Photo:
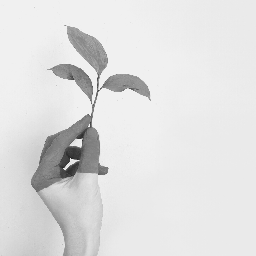
[[[96,37],[132,90],[100,91],[99,256],[256,255],[255,1],[1,3],[0,255],[61,256],[61,229],[30,185],[47,136],[91,113],[62,63],[97,74],[64,25]],[[95,94],[94,94],[95,96]],[[94,98],[93,96],[93,98]],[[81,145],[76,140],[72,145]],[[73,163],[73,162],[71,162]]]

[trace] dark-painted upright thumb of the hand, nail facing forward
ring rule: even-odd
[[[88,128],[83,136],[78,173],[97,173],[100,157],[100,140],[95,128]]]

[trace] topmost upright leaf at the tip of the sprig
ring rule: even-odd
[[[93,36],[89,36],[77,28],[67,26],[68,39],[85,60],[87,60],[96,72],[101,75],[107,67],[107,54],[100,42]]]

